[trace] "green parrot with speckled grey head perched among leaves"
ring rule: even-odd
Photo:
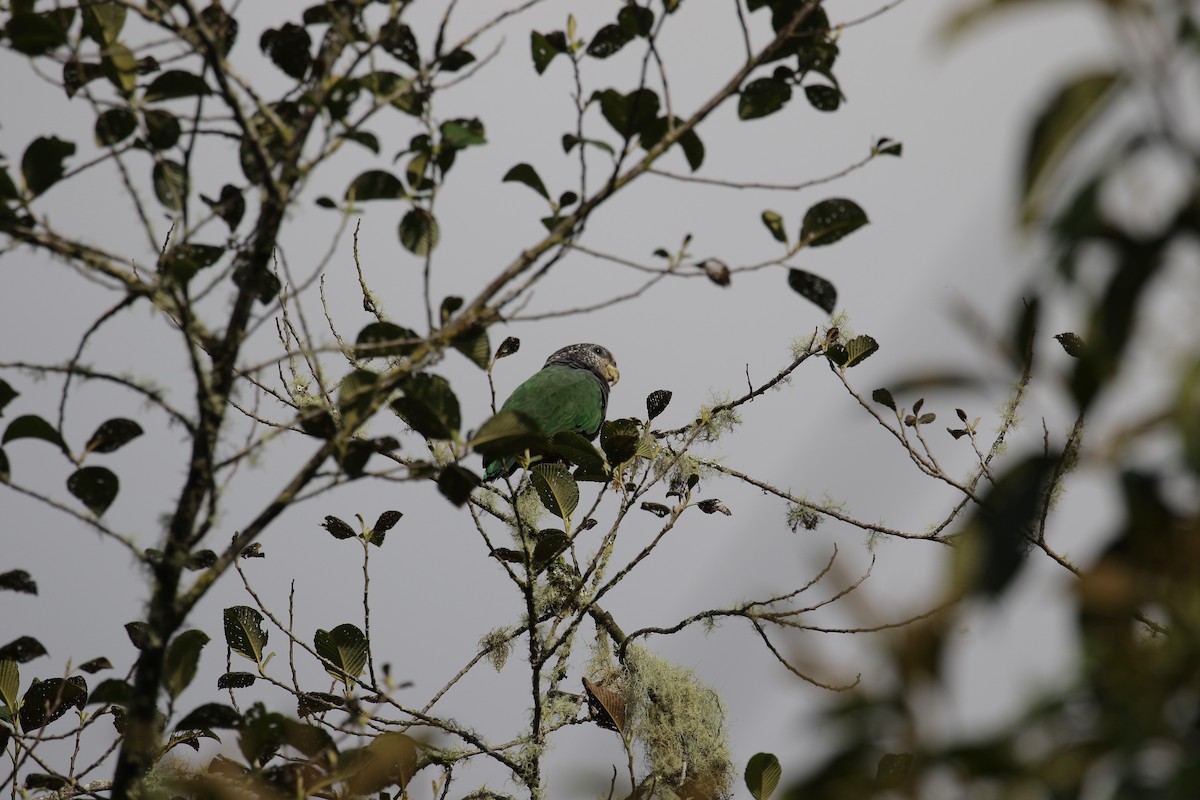
[[[600,433],[608,410],[608,386],[620,379],[617,360],[599,344],[571,344],[556,350],[545,366],[517,386],[502,411],[520,411],[547,437],[574,431],[588,439]],[[511,475],[517,459],[508,456],[484,462],[484,480]]]

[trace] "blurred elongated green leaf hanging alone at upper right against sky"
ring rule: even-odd
[[[1117,95],[1122,85],[1112,72],[1091,72],[1061,86],[1043,108],[1025,145],[1021,185],[1022,222],[1030,223],[1039,211],[1038,191],[1063,157]]]

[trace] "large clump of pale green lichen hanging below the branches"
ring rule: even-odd
[[[674,798],[672,788],[682,786],[692,792],[703,787],[710,796],[728,794],[733,762],[716,692],[690,669],[637,645],[626,651],[617,687],[625,700],[626,730],[658,778],[659,796]]]

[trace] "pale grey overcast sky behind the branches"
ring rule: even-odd
[[[247,12],[263,12],[258,4],[247,5],[254,6]],[[562,155],[558,145],[562,133],[572,125],[569,71],[558,64],[535,79],[527,31],[530,26],[560,28],[572,5],[578,4],[544,4],[505,29],[503,42],[496,35],[486,38],[480,52],[503,44],[494,62],[448,92],[445,106],[439,106],[443,118],[480,116],[487,125],[490,144],[460,156],[439,198],[443,241],[437,253],[438,299],[449,294],[472,296],[520,247],[539,235],[536,217],[544,213],[540,198],[522,186],[499,181],[510,166],[528,161],[538,167],[552,192],[570,187],[574,162]],[[680,24],[674,31],[668,26],[661,43],[672,68],[674,102],[684,115],[710,86],[737,68],[740,55],[739,36],[731,28],[736,25],[732,7],[727,18],[718,18],[702,13],[701,5],[684,4]],[[581,16],[581,30],[594,30],[616,6],[595,4],[596,8],[588,10],[595,12],[593,16]],[[875,4],[828,6],[830,18],[842,20],[862,16]],[[589,223],[584,243],[652,263],[655,247],[674,248],[684,233],[691,233],[691,252],[697,257],[720,258],[731,265],[755,263],[772,257],[779,247],[762,227],[760,211],[782,213],[794,236],[809,205],[826,197],[850,197],[866,210],[871,224],[794,264],[832,279],[839,290],[839,307],[848,311],[853,329],[872,335],[882,344],[878,355],[851,373],[858,389],[869,393],[914,368],[956,365],[1002,374],[950,309],[965,302],[984,319],[998,323],[1031,270],[1037,269],[1036,253],[1014,233],[1024,134],[1056,77],[1094,62],[1109,42],[1094,19],[1070,10],[1015,14],[947,46],[937,31],[958,6],[904,2],[877,19],[847,29],[836,67],[847,102],[836,114],[821,115],[797,98],[776,116],[743,125],[734,118],[733,103],[727,103],[701,130],[708,148],[702,174],[713,178],[817,178],[862,158],[883,136],[904,143],[902,158],[881,158],[836,184],[794,194],[683,186],[647,176],[629,197]],[[427,24],[428,18],[422,17],[426,7],[439,8],[440,4],[415,4],[418,24]],[[481,10],[492,7],[491,2],[460,4],[458,32],[474,28]],[[763,19],[756,23],[762,34]],[[259,29],[248,16],[244,19],[244,38],[238,44],[242,58],[253,60],[254,41],[248,34]],[[628,60],[616,59],[599,65],[589,88],[605,85],[606,76],[611,80],[628,76],[629,65]],[[23,62],[11,56],[0,62],[0,72],[6,76],[17,71],[28,74]],[[41,82],[7,79],[0,92],[7,101],[5,108],[23,109],[19,114],[10,110],[0,119],[0,152],[10,164],[19,162],[24,145],[35,136],[90,137],[86,109],[70,104],[61,92]],[[385,142],[385,157],[402,149],[412,136],[403,124],[392,120],[388,125],[396,126],[395,131],[376,131]],[[340,168],[343,172],[312,187],[312,197],[290,219],[281,241],[298,275],[316,267],[337,223],[336,215],[312,205],[312,198],[320,193],[340,197],[349,179],[371,166],[380,162],[355,154]],[[677,155],[664,166],[685,169]],[[234,172],[224,180],[239,182],[241,175]],[[48,206],[55,213],[61,209],[60,219],[71,215],[89,235],[110,243],[137,237],[128,233],[128,216],[113,207],[118,190],[100,176],[79,186],[86,188],[59,187],[53,198],[47,198],[53,200]],[[208,191],[215,188],[218,185]],[[424,311],[414,283],[419,265],[396,240],[398,216],[398,205],[365,207],[360,252],[367,281],[389,314],[401,324],[420,327]],[[325,270],[330,307],[346,336],[370,321],[361,311],[352,267],[347,240]],[[0,293],[0,361],[66,361],[80,331],[115,301],[62,265],[28,251],[7,254],[0,260],[0,270],[5,285]],[[526,312],[583,305],[631,285],[636,278],[618,267],[574,257],[552,273]],[[310,303],[308,309],[319,324],[319,306]],[[505,335],[522,339],[521,351],[497,366],[497,390],[502,396],[510,391],[558,347],[595,341],[616,354],[622,369],[610,416],[642,416],[644,397],[655,389],[668,389],[674,392],[674,402],[659,422],[674,427],[689,420],[709,392],[742,391],[748,369],[755,383],[766,380],[787,362],[791,341],[811,333],[824,321],[822,312],[786,289],[780,267],[737,276],[727,289],[702,279],[668,282],[635,303],[595,314],[493,329],[493,344]],[[137,309],[106,327],[85,360],[156,377],[176,392],[184,385],[179,383],[180,349],[164,330],[161,320]],[[264,329],[264,336],[256,342],[256,354],[272,351],[269,330]],[[330,337],[325,332],[320,338]],[[482,420],[488,405],[482,373],[457,356],[449,357],[443,371],[462,399],[464,420]],[[54,416],[58,401],[53,385],[34,385],[28,375],[11,371],[4,378],[23,392],[10,405],[7,419],[34,411]],[[972,416],[983,416],[983,427],[990,431],[1003,389],[994,384],[976,393],[931,398],[928,408],[948,419],[955,405],[962,405]],[[88,389],[79,390],[78,397],[86,398],[86,403],[79,401],[67,426],[68,440],[76,449],[108,416],[134,416],[148,431],[149,435],[104,463],[122,480],[122,493],[106,519],[137,531],[139,541],[149,546],[157,515],[178,492],[182,457],[173,449],[180,443],[180,432],[167,428],[161,419],[119,392]],[[186,404],[185,395],[176,392],[175,397]],[[913,398],[898,399],[911,403]],[[1030,429],[1040,428],[1034,421],[1043,413],[1058,414],[1050,419],[1055,432],[1069,425],[1063,408],[1049,393],[1034,402],[1026,415]],[[821,499],[828,492],[846,500],[862,518],[887,521],[908,530],[936,522],[953,500],[953,495],[920,480],[911,465],[906,468],[902,453],[816,361],[796,373],[790,386],[752,404],[744,416],[743,428],[712,453],[798,494]],[[377,420],[372,429],[384,433],[394,425]],[[1033,435],[1039,437],[1039,431]],[[938,439],[937,446],[946,463],[965,474],[968,459],[962,447],[953,446],[948,437]],[[307,447],[304,443],[281,445],[260,465],[244,469],[239,480],[245,483],[232,493],[222,519],[226,527],[214,534],[212,547],[220,547],[245,524],[257,503],[276,491],[287,468]],[[61,486],[68,473],[61,459],[53,458],[37,443],[18,443],[6,450],[14,476],[26,485],[42,481]],[[714,482],[704,492],[721,498],[733,516],[691,519],[623,591],[612,596],[610,610],[626,631],[667,625],[701,608],[803,583],[820,569],[834,545],[840,548],[845,569],[838,581],[856,575],[869,559],[860,531],[826,523],[815,534],[792,534],[780,504],[730,481]],[[78,663],[97,655],[107,655],[122,669],[132,650],[120,626],[140,614],[145,596],[130,558],[112,542],[23,497],[4,492],[0,498],[5,509],[0,567],[26,569],[41,588],[37,597],[11,593],[0,597],[5,608],[0,613],[0,642],[32,632],[48,646],[50,657],[25,667],[26,676],[32,672],[58,674],[68,658]],[[1102,513],[1103,504],[1100,487],[1084,480],[1069,495],[1064,512],[1067,518],[1074,509],[1091,507]],[[500,570],[482,553],[464,512],[451,510],[427,486],[395,488],[362,482],[286,515],[262,540],[268,559],[248,563],[247,571],[264,600],[280,612],[286,610],[288,582],[295,579],[300,631],[356,621],[361,596],[356,548],[331,540],[317,525],[326,513],[349,519],[359,512],[373,519],[385,509],[398,509],[406,517],[388,546],[372,554],[377,658],[392,662],[397,676],[415,681],[403,699],[420,704],[419,698],[427,697],[439,679],[469,658],[478,637],[492,627],[512,624],[521,610]],[[641,546],[637,537],[655,527],[648,516],[635,519],[623,531],[623,539],[629,540],[623,542],[625,552],[635,552]],[[1069,530],[1062,535],[1069,541]],[[1074,545],[1073,552],[1080,554],[1098,546]],[[875,554],[875,575],[862,590],[862,602],[821,618],[823,621],[883,621],[920,610],[942,588],[944,553],[940,546],[883,541]],[[1061,597],[1062,577],[1039,565],[1018,587],[1019,597],[1006,613],[982,609],[964,624],[960,648],[952,655],[956,703],[931,711],[936,724],[947,732],[979,730],[1012,712],[1015,698],[1062,676],[1072,651],[1063,642],[1064,612],[1051,602]],[[197,609],[192,625],[218,634],[220,609],[248,602],[236,584],[236,575],[228,576],[223,589]],[[283,638],[276,637],[271,644],[282,661]],[[814,748],[820,747],[821,732],[805,714],[828,694],[784,672],[744,626],[726,624],[707,637],[696,630],[649,639],[648,644],[694,668],[721,691],[739,765],[752,753],[769,750],[784,760],[785,776],[794,775],[796,765],[809,763]],[[864,644],[810,634],[790,646],[822,680],[844,682],[862,672],[864,682],[870,684],[880,673],[863,651]],[[205,686],[223,672],[222,649],[218,640],[208,648],[202,678],[185,694],[181,706],[212,699]],[[512,693],[514,686],[523,685],[520,678],[516,663],[500,675],[481,670],[476,679],[448,696],[444,708],[438,708],[487,736],[506,739],[516,728],[514,723],[524,720],[523,696]],[[286,698],[271,697],[287,708]],[[490,710],[482,712],[481,708]],[[577,776],[584,753],[590,759],[589,769],[604,781],[608,760],[622,760],[614,738],[599,729],[571,729],[562,735],[560,744],[562,757],[554,772],[559,776],[569,770]],[[580,796],[589,796],[592,788],[581,792]],[[566,795],[556,792],[554,796]]]

